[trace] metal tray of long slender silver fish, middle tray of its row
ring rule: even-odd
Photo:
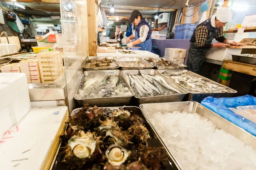
[[[123,70],[137,104],[181,101],[188,92],[156,70]]]

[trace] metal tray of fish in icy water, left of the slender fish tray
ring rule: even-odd
[[[120,70],[84,71],[76,90],[80,106],[129,105],[134,92]]]

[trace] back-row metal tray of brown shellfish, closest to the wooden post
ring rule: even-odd
[[[85,70],[117,70],[119,68],[116,57],[86,57]]]

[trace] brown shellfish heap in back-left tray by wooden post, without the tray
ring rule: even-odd
[[[105,57],[104,59],[89,59],[85,67],[117,67],[112,59]]]

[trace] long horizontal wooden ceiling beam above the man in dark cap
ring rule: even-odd
[[[102,5],[102,7],[109,6]],[[114,5],[114,8],[116,9],[134,9],[134,10],[147,10],[147,11],[177,11],[177,9],[169,9],[169,8],[154,8],[154,7],[142,7],[142,6],[120,6],[120,5]]]

